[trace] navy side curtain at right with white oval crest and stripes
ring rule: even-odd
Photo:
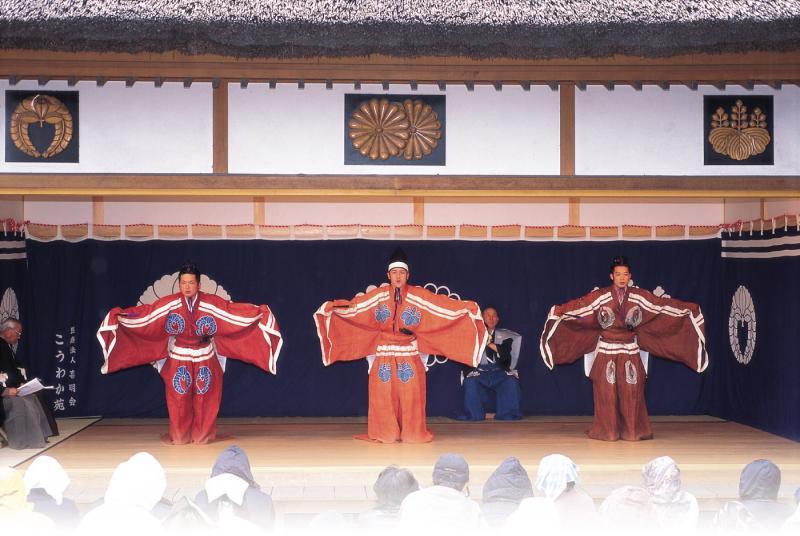
[[[800,232],[725,233],[722,255],[711,410],[800,440]]]

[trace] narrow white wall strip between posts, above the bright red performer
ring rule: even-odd
[[[253,223],[253,200],[250,197],[158,199],[115,197],[103,201],[103,220],[110,225],[150,223],[154,225],[191,225],[193,223]]]

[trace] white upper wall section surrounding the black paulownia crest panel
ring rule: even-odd
[[[774,95],[775,165],[704,166],[703,95]],[[692,91],[645,86],[575,92],[575,171],[579,175],[800,175],[800,88]]]

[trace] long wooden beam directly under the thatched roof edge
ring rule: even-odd
[[[235,58],[217,55],[183,55],[174,52],[98,53],[29,50],[0,51],[0,77],[15,79],[95,80],[103,77],[137,81],[211,81],[248,79],[306,83],[423,83],[476,84],[585,81],[602,84],[608,80],[631,83],[636,80],[710,83],[759,80],[800,81],[800,52],[750,52],[745,54],[691,54],[668,58],[613,56],[553,60],[514,60],[468,57],[397,58],[389,56],[346,58]]]

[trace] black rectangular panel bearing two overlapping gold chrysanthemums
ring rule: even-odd
[[[445,96],[345,95],[344,163],[445,165]]]

